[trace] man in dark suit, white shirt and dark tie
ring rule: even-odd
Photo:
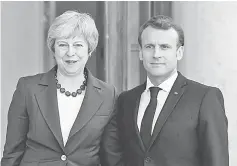
[[[171,18],[141,26],[144,84],[118,98],[118,120],[128,166],[228,166],[227,118],[218,88],[177,71],[184,33]]]

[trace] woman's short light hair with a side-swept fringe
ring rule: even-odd
[[[98,44],[99,33],[93,18],[86,13],[66,11],[55,18],[48,31],[47,45],[55,52],[54,44],[57,38],[83,36],[88,43],[89,53],[92,53]]]

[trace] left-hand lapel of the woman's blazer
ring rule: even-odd
[[[54,79],[55,70],[56,67],[41,77],[38,84],[40,91],[35,94],[35,97],[49,129],[52,131],[60,147],[63,149],[63,139],[57,102],[57,88]]]

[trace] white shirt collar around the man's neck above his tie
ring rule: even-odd
[[[167,80],[165,80],[164,82],[162,82],[158,87],[161,88],[163,91],[165,92],[169,92],[176,80],[176,78],[178,77],[178,72],[174,72]],[[148,91],[150,87],[153,87],[155,85],[153,85],[150,81],[150,79],[147,77],[147,81],[146,81],[146,89],[145,91]]]

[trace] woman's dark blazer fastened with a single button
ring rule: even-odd
[[[64,146],[54,70],[20,78],[9,108],[1,165],[119,165],[115,88],[88,72],[85,97]]]

